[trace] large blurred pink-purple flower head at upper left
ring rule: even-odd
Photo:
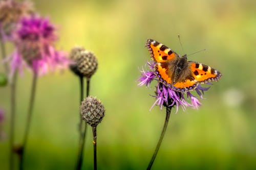
[[[22,72],[22,65],[36,74],[44,75],[48,70],[68,67],[70,60],[66,53],[57,51],[56,28],[49,19],[40,16],[24,17],[19,20],[14,36],[16,50],[9,58],[11,75],[16,69]]]

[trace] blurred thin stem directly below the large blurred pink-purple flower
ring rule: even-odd
[[[27,146],[28,135],[29,135],[30,125],[31,125],[32,111],[33,111],[34,101],[35,101],[34,99],[35,99],[35,91],[36,91],[36,82],[37,82],[37,74],[36,72],[34,72],[25,135],[24,135],[24,140],[21,147],[21,152],[20,152],[20,162],[19,162],[20,170],[23,169],[23,164],[24,164],[24,152]]]

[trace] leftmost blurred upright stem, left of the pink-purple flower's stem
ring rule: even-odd
[[[13,169],[13,148],[14,148],[14,121],[15,121],[15,106],[16,106],[16,80],[17,71],[15,71],[11,86],[11,122],[10,122],[10,169]]]

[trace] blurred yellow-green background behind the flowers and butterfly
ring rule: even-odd
[[[164,43],[189,60],[222,72],[198,110],[172,112],[153,169],[256,169],[255,1],[34,1],[59,28],[58,48],[82,45],[98,58],[90,94],[106,112],[98,126],[98,169],[145,169],[155,150],[165,111],[154,107],[154,86],[138,87],[146,39]],[[10,46],[8,52],[12,52]],[[3,66],[0,70],[3,72]],[[25,128],[32,74],[17,85],[15,143]],[[10,90],[0,88],[6,110],[1,125],[0,168],[8,168]],[[70,70],[38,81],[26,169],[74,169],[78,151],[79,81]],[[83,169],[93,168],[91,128]]]

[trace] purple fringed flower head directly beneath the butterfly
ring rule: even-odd
[[[147,62],[148,64],[148,70],[141,70],[141,77],[139,78],[139,86],[146,85],[147,87],[150,86],[151,82],[155,79],[157,80],[155,71],[154,71],[154,64],[155,62]],[[210,83],[208,83],[210,84]],[[195,89],[197,94],[200,96],[201,99],[203,99],[204,91],[208,90],[209,87],[205,88],[200,85],[197,86]],[[201,103],[199,99],[193,95],[190,91],[187,91],[187,96],[185,98],[185,94],[174,91],[172,88],[165,86],[161,82],[157,82],[156,86],[156,95],[153,95],[156,98],[156,101],[152,105],[151,109],[158,105],[162,109],[163,106],[165,107],[176,107],[176,113],[178,112],[179,106],[185,110],[187,107],[191,107],[194,109],[197,109],[199,106],[201,106]]]

